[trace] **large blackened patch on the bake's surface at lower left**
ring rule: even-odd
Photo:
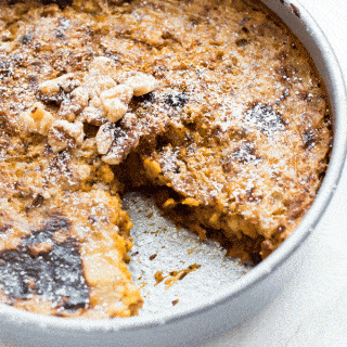
[[[67,232],[70,223],[53,217],[44,227],[26,236],[17,249],[0,253],[0,287],[10,298],[29,299],[37,294],[56,307],[77,309],[89,305],[89,287],[76,240],[56,242],[53,233]],[[30,248],[49,243],[40,253]]]

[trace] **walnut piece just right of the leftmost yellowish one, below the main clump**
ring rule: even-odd
[[[52,151],[57,153],[69,146],[81,145],[85,132],[80,121],[68,123],[67,120],[55,120],[48,133],[48,143]]]

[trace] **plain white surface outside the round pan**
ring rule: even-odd
[[[347,80],[347,0],[299,0],[333,46]],[[266,309],[206,347],[347,346],[347,166],[336,195],[300,248],[301,266]]]

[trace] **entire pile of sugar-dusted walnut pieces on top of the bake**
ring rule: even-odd
[[[54,98],[62,91],[65,93],[66,98],[57,111],[60,120],[46,112],[46,121],[39,123],[37,119],[44,114],[43,105],[39,104],[34,116],[30,113],[23,115],[24,123],[30,131],[48,134],[53,152],[81,145],[85,136],[82,123],[100,126],[95,138],[98,152],[104,155],[102,159],[105,163],[115,165],[137,146],[140,134],[134,131],[136,115],[129,115],[121,127],[112,124],[127,114],[133,95],[152,92],[157,86],[151,75],[139,72],[120,74],[114,61],[98,56],[83,76],[66,74],[39,85],[42,94]]]

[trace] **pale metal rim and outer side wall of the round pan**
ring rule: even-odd
[[[296,231],[268,258],[202,303],[127,319],[70,320],[44,317],[0,305],[0,338],[4,346],[171,346],[207,338],[208,334],[240,324],[278,295],[293,275],[298,247],[314,230],[344,166],[346,91],[343,74],[324,34],[297,1],[266,0],[301,40],[322,76],[334,118],[330,166],[309,211]]]

